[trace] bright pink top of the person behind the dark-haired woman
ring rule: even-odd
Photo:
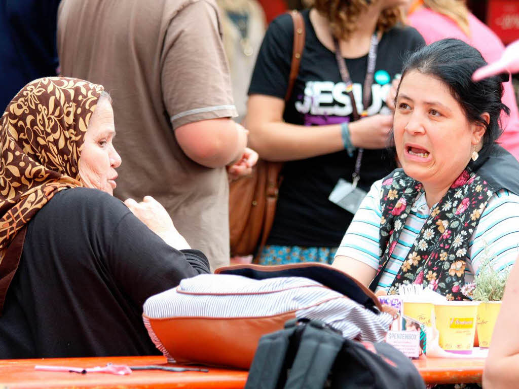
[[[424,37],[427,44],[444,38],[458,38],[479,50],[485,61],[489,63],[499,60],[503,54],[504,45],[498,36],[472,14],[469,14],[470,37],[461,31],[454,20],[428,8],[418,9],[407,20],[409,25],[412,25]],[[517,102],[512,82],[504,83],[503,86],[502,101],[510,108],[510,117],[501,115],[504,132],[498,142],[519,160]]]

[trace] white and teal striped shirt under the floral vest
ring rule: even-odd
[[[354,258],[373,269],[378,269],[379,265],[381,183],[382,180],[379,180],[372,185],[335,254]],[[405,221],[404,230],[380,278],[377,290],[389,289],[430,212],[422,191]],[[474,273],[477,274],[481,263],[487,258],[492,258],[491,263],[496,271],[512,265],[519,252],[519,196],[507,190],[496,192],[488,201],[470,239],[469,252],[463,253],[466,257],[466,282],[474,279]]]

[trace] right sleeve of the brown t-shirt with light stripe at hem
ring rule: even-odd
[[[173,129],[237,116],[214,1],[184,6],[171,20],[162,54],[162,94]]]

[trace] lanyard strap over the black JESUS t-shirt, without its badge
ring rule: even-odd
[[[355,98],[353,96],[353,83],[351,82],[351,77],[348,72],[348,67],[346,66],[346,61],[343,56],[340,54],[339,41],[337,38],[333,39],[335,44],[335,58],[337,59],[337,65],[339,66],[340,77],[343,79],[344,84],[346,85],[346,93],[351,101],[351,109],[353,115],[353,121],[357,121],[363,117],[367,116],[367,108],[370,104],[371,99],[371,86],[373,85],[373,77],[375,74],[375,65],[377,62],[377,48],[378,48],[378,37],[377,32],[373,34],[371,37],[370,43],[370,52],[367,57],[367,71],[366,71],[366,79],[364,80],[364,90],[362,93],[362,105],[363,110],[359,115],[357,111],[357,104],[355,102]],[[360,180],[360,167],[362,164],[362,154],[364,153],[364,149],[359,149],[357,153],[357,160],[355,162],[355,171],[353,172],[353,186],[357,186],[357,183]]]

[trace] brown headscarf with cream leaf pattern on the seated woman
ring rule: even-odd
[[[0,314],[25,226],[52,196],[83,186],[78,160],[103,87],[49,77],[26,85],[0,121]]]

